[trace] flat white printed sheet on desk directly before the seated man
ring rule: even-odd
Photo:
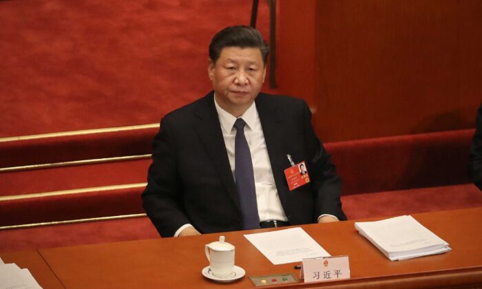
[[[304,258],[329,257],[322,246],[302,228],[244,235],[274,265],[300,262]]]

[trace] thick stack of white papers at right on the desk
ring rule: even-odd
[[[355,222],[355,228],[391,261],[452,250],[447,242],[408,215],[377,222]]]

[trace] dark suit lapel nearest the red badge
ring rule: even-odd
[[[276,189],[280,200],[284,206],[284,196],[289,192],[286,180],[284,178],[284,169],[289,167],[286,154],[286,136],[284,136],[284,118],[281,107],[278,107],[277,101],[267,98],[275,96],[266,96],[260,94],[256,100],[256,109],[261,120],[264,140],[268,149],[269,161],[275,178]]]

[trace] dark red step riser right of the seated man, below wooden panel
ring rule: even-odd
[[[470,182],[474,129],[326,144],[342,177],[343,195]]]

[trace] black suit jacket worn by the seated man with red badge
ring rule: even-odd
[[[259,94],[255,99],[284,212],[292,225],[321,214],[346,220],[341,181],[311,126],[304,100]],[[213,92],[172,111],[154,138],[143,206],[160,235],[171,237],[190,223],[200,233],[242,229],[240,204],[229,166]],[[306,161],[311,183],[289,191],[284,169]]]

